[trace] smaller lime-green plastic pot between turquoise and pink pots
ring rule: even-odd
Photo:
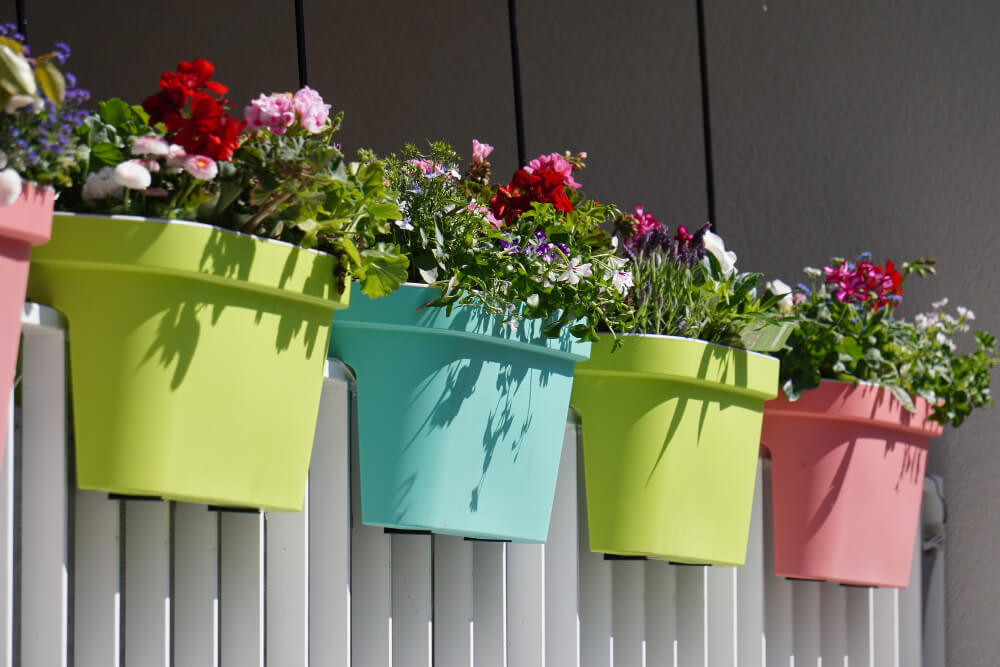
[[[772,357],[700,340],[610,336],[577,368],[590,549],[680,563],[746,559]]]

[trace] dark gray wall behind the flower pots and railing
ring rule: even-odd
[[[100,0],[86,13],[28,1],[36,49],[71,41],[71,69],[99,96],[138,101],[162,69],[195,55],[216,62],[237,106],[297,82],[288,0],[180,0],[168,12]],[[833,254],[931,255],[940,275],[907,286],[907,311],[948,295],[1000,331],[1000,4],[706,4],[717,223],[740,266],[794,282]],[[528,152],[586,150],[591,196],[700,224],[694,0],[520,5]],[[516,161],[506,3],[306,6],[310,81],[346,110],[347,149],[444,138],[467,154],[476,137],[497,147],[495,180],[506,180]],[[998,432],[1000,411],[987,411],[932,449],[949,502],[956,667],[1000,663]]]

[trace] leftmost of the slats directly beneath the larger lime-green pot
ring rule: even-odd
[[[73,576],[76,667],[121,664],[120,505],[98,491],[76,491]]]

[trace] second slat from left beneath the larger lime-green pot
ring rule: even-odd
[[[125,663],[170,667],[170,503],[125,501]]]

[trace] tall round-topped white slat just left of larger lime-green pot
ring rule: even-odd
[[[21,421],[21,664],[68,660],[66,338],[23,337]]]

